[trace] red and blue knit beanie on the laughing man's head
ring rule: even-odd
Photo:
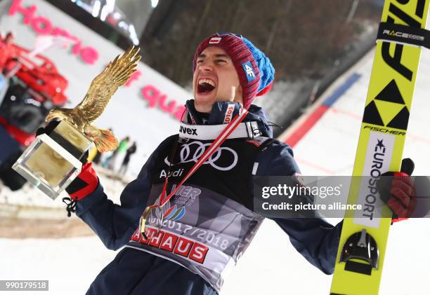
[[[193,72],[197,57],[209,46],[223,48],[233,61],[242,86],[245,109],[249,108],[254,97],[263,95],[271,89],[275,78],[275,69],[271,61],[249,40],[237,34],[214,34],[202,41],[195,51]]]

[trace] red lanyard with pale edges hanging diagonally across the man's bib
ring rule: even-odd
[[[247,114],[248,114],[248,111],[246,109],[242,108],[240,110],[240,114],[235,116],[235,118],[233,118],[233,120],[230,123],[228,123],[228,125],[226,126],[226,128],[224,128],[224,130],[221,132],[221,134],[218,137],[216,137],[214,142],[211,143],[211,145],[209,146],[209,149],[204,151],[204,153],[200,157],[200,159],[197,160],[197,163],[195,163],[193,165],[193,167],[191,167],[190,171],[188,171],[188,173],[185,175],[185,177],[183,177],[181,182],[179,182],[179,184],[176,186],[176,188],[174,188],[174,190],[171,191],[171,193],[169,193],[169,195],[166,195],[167,181],[169,179],[168,176],[166,177],[166,180],[164,181],[163,190],[162,190],[162,193],[160,195],[158,204],[154,204],[154,205],[150,205],[150,206],[146,207],[145,211],[143,211],[143,214],[141,216],[141,222],[140,222],[139,227],[140,227],[140,231],[143,235],[145,235],[145,220],[148,217],[148,215],[150,214],[150,212],[152,211],[152,209],[155,209],[157,207],[159,207],[159,208],[163,207],[171,199],[171,197],[173,197],[175,195],[175,193],[179,190],[179,188],[181,188],[182,184],[188,178],[190,178],[191,175],[193,175],[194,172],[196,172],[197,169],[199,169],[200,166],[202,166],[204,162],[206,162],[206,160],[219,148],[219,146],[221,146],[221,144],[224,142],[224,140],[227,139],[228,135],[230,135],[231,132],[233,132],[233,130],[235,130],[235,128],[237,128],[237,126],[240,124],[240,122],[242,122],[242,120],[245,118],[245,116],[247,116]],[[145,237],[146,237],[146,235],[145,235]]]

